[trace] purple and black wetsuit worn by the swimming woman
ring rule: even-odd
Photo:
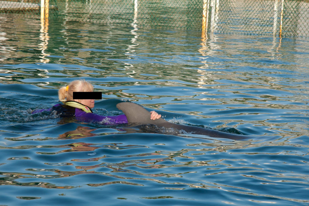
[[[95,113],[87,113],[82,109],[70,107],[65,104],[56,104],[49,109],[37,109],[32,111],[32,114],[42,112],[42,111],[57,111],[61,117],[75,116],[78,121],[86,122],[100,122],[104,125],[116,125],[116,124],[127,124],[128,120],[125,115],[117,116],[102,116]]]

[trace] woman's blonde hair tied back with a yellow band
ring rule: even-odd
[[[93,86],[84,79],[74,80],[68,86],[63,86],[58,90],[61,102],[73,101],[73,92],[92,92]]]

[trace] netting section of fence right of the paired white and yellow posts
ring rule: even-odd
[[[309,3],[304,1],[220,1],[215,31],[309,36]],[[282,11],[282,13],[281,13]],[[282,21],[282,23],[281,23]]]

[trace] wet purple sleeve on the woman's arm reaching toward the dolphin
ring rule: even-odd
[[[79,110],[79,109],[78,109]],[[75,112],[75,118],[82,121],[95,121],[104,125],[127,124],[128,120],[125,115],[102,116],[95,113]]]

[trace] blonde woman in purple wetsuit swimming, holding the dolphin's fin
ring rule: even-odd
[[[75,80],[68,86],[61,87],[58,91],[59,100],[63,104],[56,104],[49,109],[38,109],[32,114],[42,111],[57,111],[61,117],[75,116],[79,121],[102,122],[105,125],[116,125],[128,123],[125,115],[102,116],[95,114],[91,108],[95,106],[94,99],[73,99],[73,92],[93,92],[93,86],[85,80]],[[161,117],[157,112],[150,111],[150,119],[156,120]]]

